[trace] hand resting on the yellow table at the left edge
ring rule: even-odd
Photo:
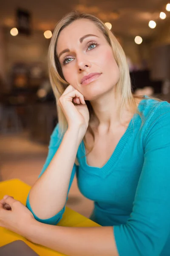
[[[0,227],[27,237],[28,229],[34,222],[33,214],[20,201],[8,195],[0,200]]]

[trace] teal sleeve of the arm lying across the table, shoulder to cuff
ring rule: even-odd
[[[170,233],[170,106],[162,105],[147,127],[133,211],[113,227],[120,256],[159,256]]]

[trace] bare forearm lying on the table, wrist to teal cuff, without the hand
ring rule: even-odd
[[[27,239],[68,256],[119,256],[113,227],[59,227],[36,221]]]

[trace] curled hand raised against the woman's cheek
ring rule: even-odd
[[[58,105],[67,119],[68,128],[80,128],[84,137],[89,122],[89,111],[84,96],[70,84],[59,98]]]

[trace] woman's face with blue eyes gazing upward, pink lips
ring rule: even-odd
[[[59,34],[56,52],[65,80],[86,100],[113,90],[119,81],[119,67],[112,49],[91,20],[75,20],[65,27]],[[90,73],[99,75],[81,83],[83,76]]]

